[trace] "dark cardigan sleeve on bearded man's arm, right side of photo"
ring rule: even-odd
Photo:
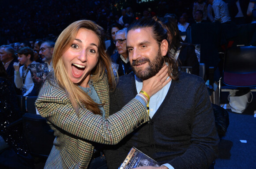
[[[192,112],[194,116],[191,126],[192,144],[183,155],[168,162],[174,169],[206,169],[218,155],[219,138],[215,129],[213,109],[207,88],[202,79],[201,81],[197,86],[194,100],[196,107]]]

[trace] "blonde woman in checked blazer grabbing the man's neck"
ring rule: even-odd
[[[149,97],[169,82],[167,67],[160,72],[143,82]],[[35,103],[56,136],[46,169],[86,169],[98,150],[96,143],[117,144],[149,120],[147,94],[142,93],[109,116],[109,88],[114,87],[102,28],[88,20],[69,25],[56,41],[53,72]]]

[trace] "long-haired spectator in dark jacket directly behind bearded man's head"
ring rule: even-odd
[[[171,44],[171,56],[178,60],[180,67],[192,67],[191,73],[199,76],[199,61],[196,56],[195,46],[184,43],[174,20],[165,17],[159,18],[159,21],[167,30],[168,39]]]

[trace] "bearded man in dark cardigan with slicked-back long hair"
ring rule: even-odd
[[[132,147],[161,165],[143,169],[207,169],[217,157],[219,138],[205,83],[199,76],[178,72],[169,47],[166,30],[154,19],[143,18],[128,28],[127,50],[134,73],[120,77],[110,95],[110,114],[140,93],[143,80],[163,65],[169,65],[171,81],[150,98],[150,121],[106,147],[109,169],[118,169]]]

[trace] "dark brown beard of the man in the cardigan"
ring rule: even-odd
[[[160,49],[158,49],[158,54],[154,57],[153,61],[150,61],[148,58],[141,58],[135,61],[132,61],[132,71],[136,74],[139,79],[147,80],[153,76],[155,76],[163,67],[164,57],[161,55]],[[148,63],[148,66],[144,69],[135,68],[135,65],[139,63]],[[137,70],[136,70],[137,69]]]

